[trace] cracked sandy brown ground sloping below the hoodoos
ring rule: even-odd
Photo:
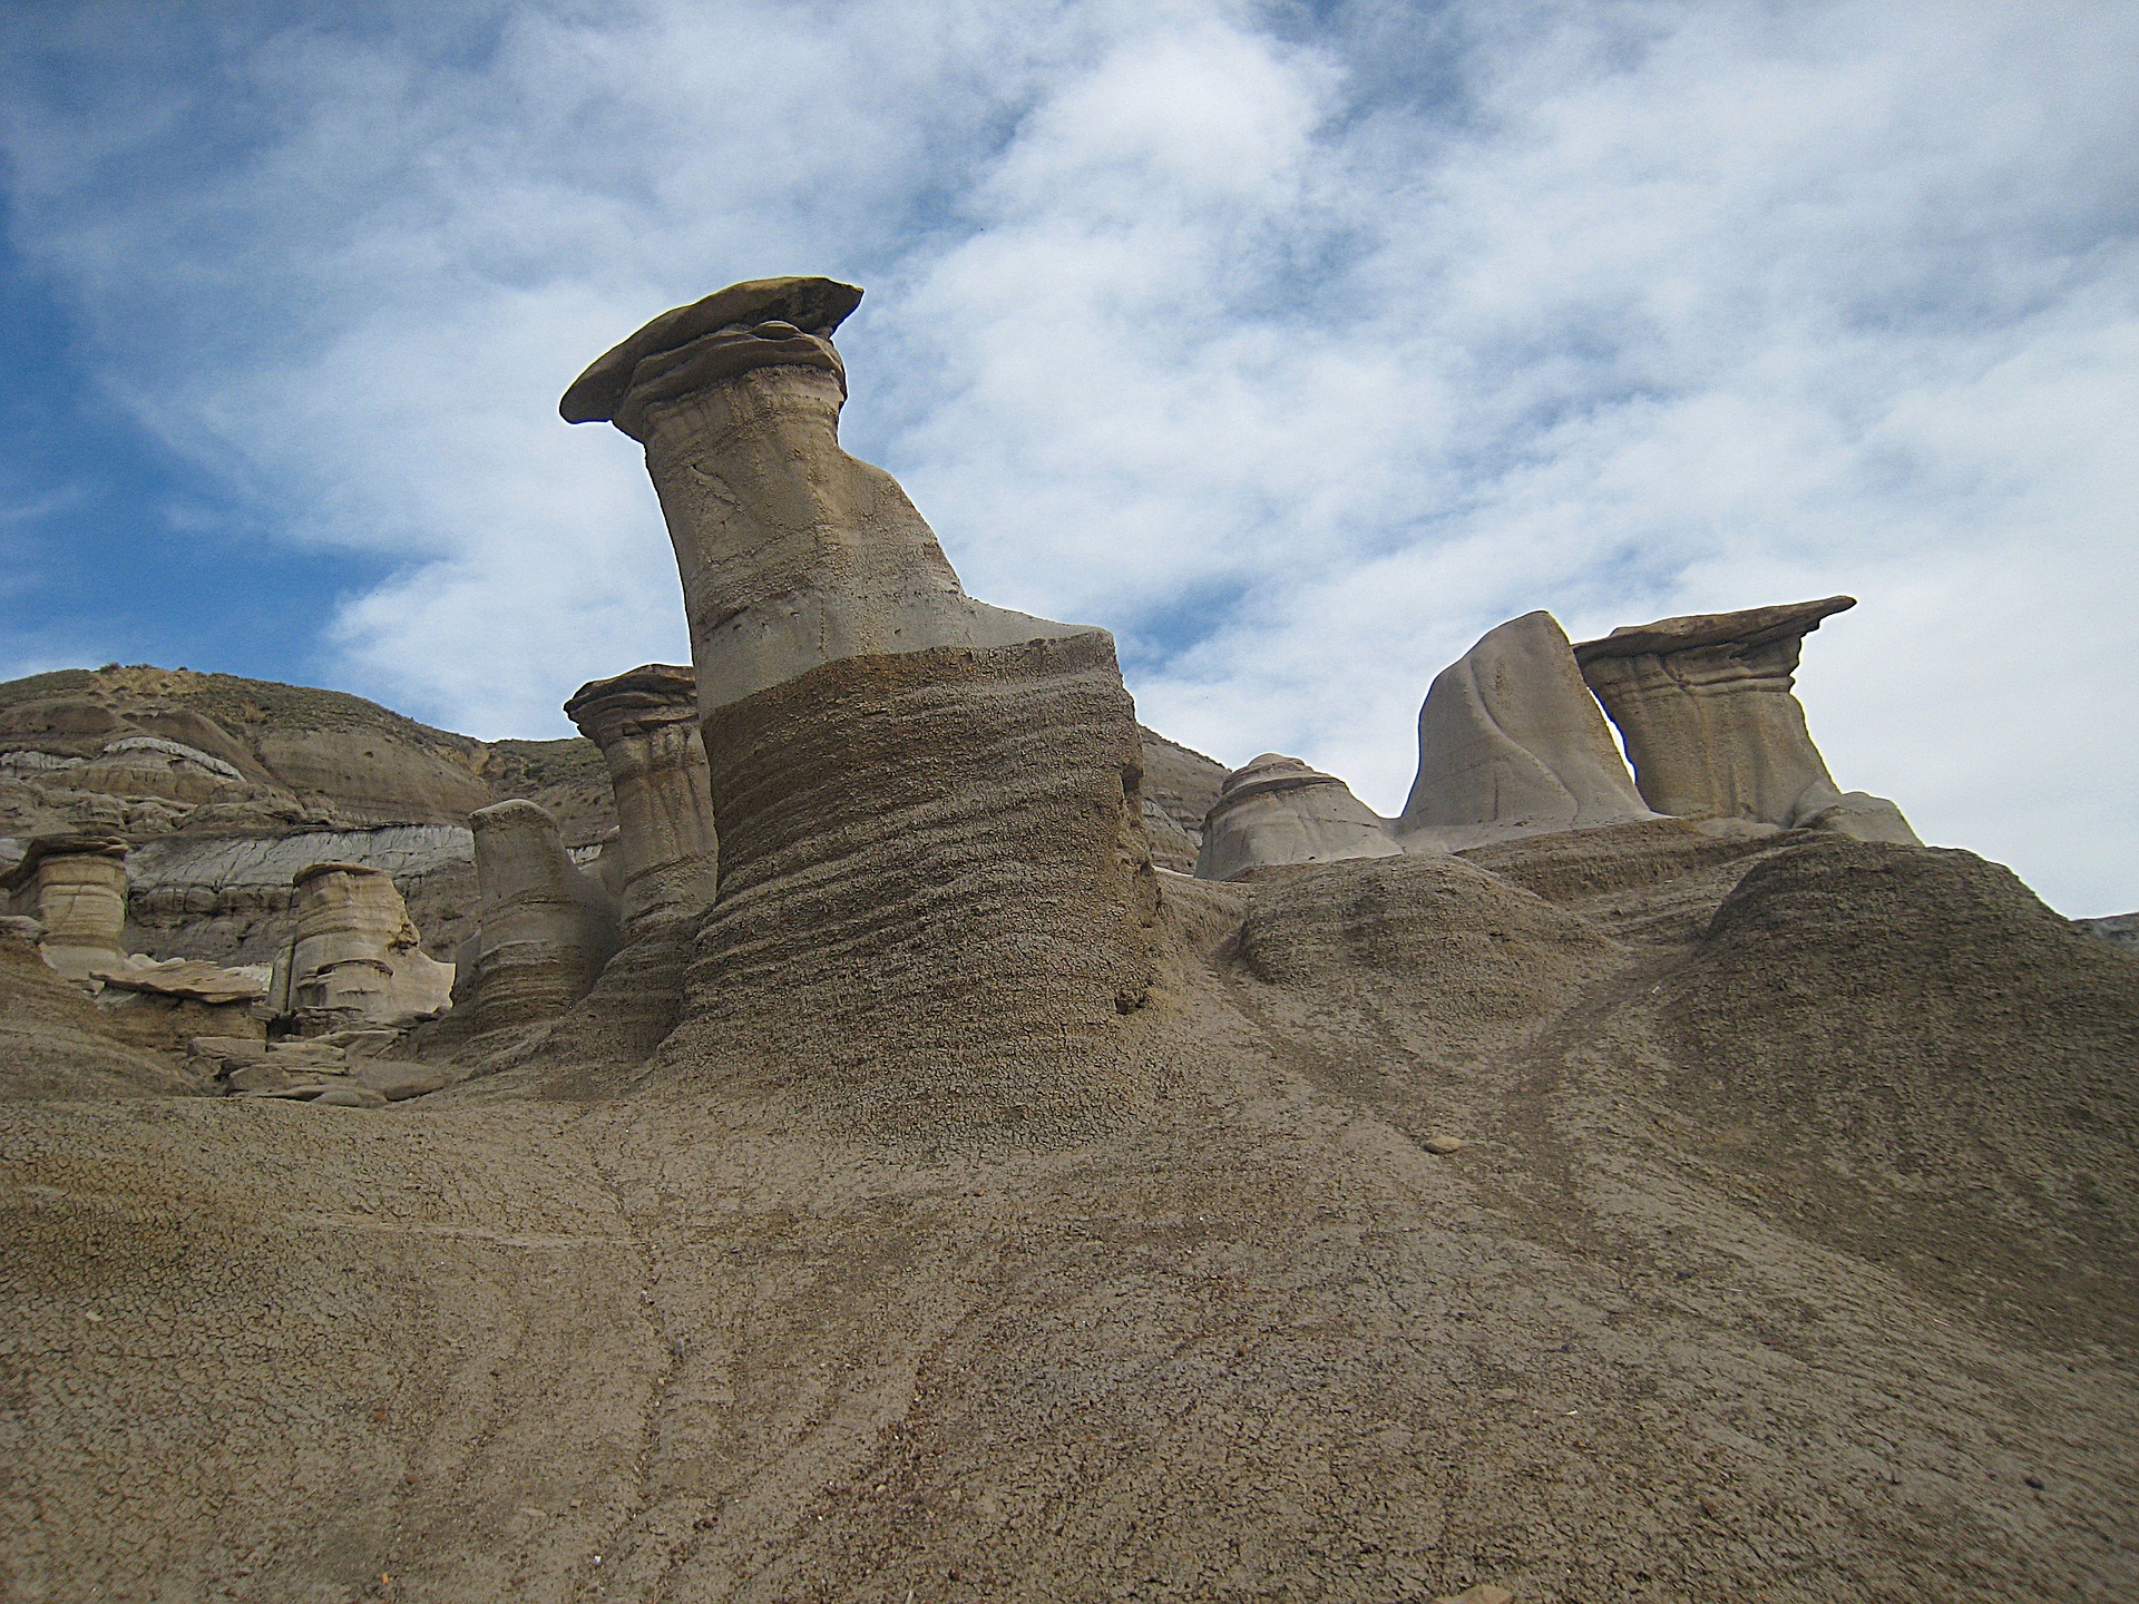
[[[0,1598],[2139,1598],[2135,958],[1671,821],[1159,917],[1042,1136],[599,1009],[178,1095],[0,967]]]

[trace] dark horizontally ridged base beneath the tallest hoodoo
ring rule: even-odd
[[[721,898],[663,1063],[862,1127],[1080,1116],[1157,909],[1106,633],[828,663],[717,708],[706,753]]]

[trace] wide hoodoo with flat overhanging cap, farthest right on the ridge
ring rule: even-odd
[[[1679,819],[1812,826],[1914,843],[1902,811],[1840,791],[1792,693],[1805,635],[1855,597],[1662,618],[1574,648],[1611,712],[1641,796]]]

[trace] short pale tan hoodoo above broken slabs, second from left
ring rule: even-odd
[[[424,952],[394,888],[368,864],[308,864],[291,877],[291,935],[267,1005],[314,1027],[398,1027],[451,1003],[453,965]]]

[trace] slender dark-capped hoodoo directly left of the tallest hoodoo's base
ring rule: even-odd
[[[646,663],[582,684],[565,716],[601,746],[616,791],[616,898],[622,935],[695,917],[712,903],[717,836],[691,669]]]

